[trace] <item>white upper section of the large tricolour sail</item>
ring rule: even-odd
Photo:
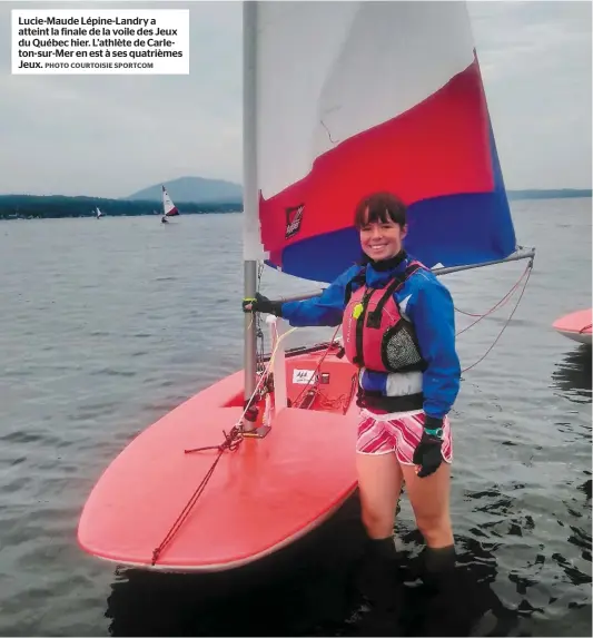
[[[265,199],[306,177],[340,143],[428,98],[474,59],[464,2],[257,2],[256,21],[251,157]],[[247,213],[245,254],[265,258],[254,233],[259,219]]]

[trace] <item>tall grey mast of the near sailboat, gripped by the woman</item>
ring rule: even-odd
[[[257,257],[249,236],[259,227],[257,187],[257,2],[243,3],[243,224],[244,224],[244,296],[254,297],[257,284]],[[245,400],[256,387],[255,315],[245,315]]]

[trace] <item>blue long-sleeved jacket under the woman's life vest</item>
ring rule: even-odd
[[[384,287],[396,274],[402,274],[412,259],[406,257],[389,271],[376,271],[366,266],[366,283],[375,288]],[[283,304],[283,318],[291,326],[327,325],[342,323],[347,283],[360,272],[355,265],[337,277],[319,297]],[[353,292],[357,288],[353,286]],[[461,365],[455,350],[455,312],[448,289],[437,277],[421,268],[408,277],[395,294],[401,312],[414,325],[421,354],[427,367],[423,373],[424,412],[442,419],[452,409],[459,391]],[[376,372],[374,376],[386,375]],[[376,379],[375,379],[376,382]],[[380,381],[378,383],[380,384]],[[383,384],[384,385],[384,384]]]

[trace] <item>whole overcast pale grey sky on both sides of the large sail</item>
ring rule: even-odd
[[[13,8],[189,8],[190,76],[11,76]],[[591,3],[470,2],[507,188],[591,187]],[[0,194],[241,181],[239,2],[0,1]]]

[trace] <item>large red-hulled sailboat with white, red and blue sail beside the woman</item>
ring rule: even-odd
[[[356,203],[408,204],[406,249],[437,274],[516,245],[463,2],[244,2],[244,262],[330,282],[359,257]],[[165,189],[164,189],[165,197]],[[319,294],[317,292],[316,294]],[[240,300],[237,300],[240,312]],[[257,355],[136,436],[93,487],[80,547],[119,565],[235,568],[356,489],[357,371],[327,343]]]

